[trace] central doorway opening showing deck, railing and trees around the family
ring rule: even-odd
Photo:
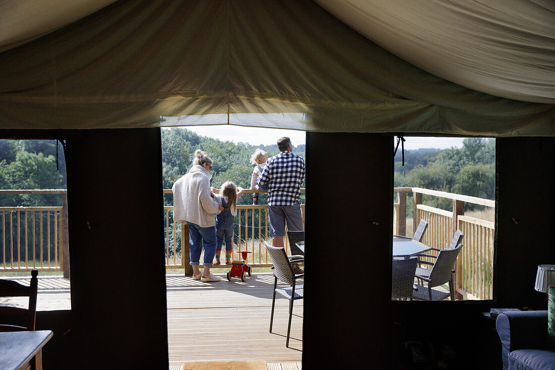
[[[162,167],[164,188],[164,248],[166,294],[168,302],[168,348],[170,366],[185,362],[264,360],[267,363],[301,362],[302,299],[294,302],[290,348],[285,348],[289,301],[276,298],[274,324],[269,332],[274,290],[272,261],[264,242],[269,236],[267,194],[251,188],[255,164],[251,157],[263,151],[268,157],[280,151],[276,142],[290,137],[292,153],[305,158],[305,132],[281,129],[259,129],[235,126],[174,127],[162,129]],[[213,161],[210,185],[216,194],[224,182],[232,181],[245,189],[236,201],[233,219],[231,262],[242,260],[251,275],[244,281],[228,280],[233,265],[226,262],[225,240],[221,246],[219,265],[210,272],[219,282],[203,282],[192,277],[189,264],[189,238],[186,227],[174,219],[173,184],[193,166],[194,153],[203,151]],[[217,189],[217,190],[216,190]],[[253,199],[258,194],[258,204]],[[305,185],[301,185],[300,208],[304,224]],[[287,238],[286,252],[291,254]],[[200,265],[204,261],[204,249]],[[214,261],[215,262],[215,261]],[[302,265],[300,266],[303,267]],[[202,269],[202,266],[200,266]],[[284,283],[278,283],[285,286]],[[301,282],[302,284],[302,282]]]

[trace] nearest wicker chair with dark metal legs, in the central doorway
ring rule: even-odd
[[[289,324],[287,325],[287,340],[285,347],[289,347],[289,335],[291,333],[291,317],[293,315],[293,301],[302,299],[303,286],[296,285],[296,280],[304,277],[304,274],[297,274],[293,272],[291,263],[302,262],[303,260],[289,261],[285,248],[272,247],[268,242],[264,241],[266,250],[270,255],[272,263],[274,264],[274,297],[272,298],[272,312],[270,316],[270,333],[272,332],[272,324],[274,322],[274,307],[276,301],[276,293],[289,299]],[[288,287],[278,288],[278,279],[286,284]]]

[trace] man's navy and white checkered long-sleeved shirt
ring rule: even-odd
[[[301,201],[301,184],[305,180],[305,161],[289,151],[268,158],[258,186],[268,183],[268,206],[294,206]]]

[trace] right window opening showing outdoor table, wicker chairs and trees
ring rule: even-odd
[[[402,156],[398,149],[392,299],[493,299],[495,139],[406,137],[404,166]],[[450,258],[455,272],[430,281]]]

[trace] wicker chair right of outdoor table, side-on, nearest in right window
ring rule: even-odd
[[[415,277],[422,282],[418,286],[418,291],[413,294],[413,298],[424,299],[426,301],[441,301],[441,299],[451,296],[451,301],[455,301],[455,288],[453,287],[452,270],[453,264],[457,261],[458,253],[461,252],[462,244],[458,244],[453,249],[446,249],[440,251],[433,267],[430,268],[416,268]],[[432,264],[431,262],[421,261],[421,263]],[[427,282],[428,286],[423,286],[423,282]],[[441,286],[449,283],[449,292],[441,292],[433,287]]]

